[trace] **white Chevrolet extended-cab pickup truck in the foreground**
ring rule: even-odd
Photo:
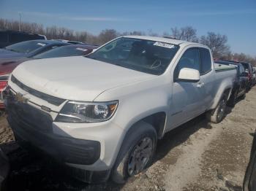
[[[122,36],[87,58],[20,64],[4,97],[20,144],[85,182],[123,183],[150,165],[167,131],[204,112],[221,121],[235,76],[202,44]]]

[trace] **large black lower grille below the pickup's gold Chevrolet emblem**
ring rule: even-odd
[[[15,101],[12,96],[7,101],[7,112],[20,127],[26,127],[43,132],[52,131],[53,118],[50,114],[40,111],[29,104]]]

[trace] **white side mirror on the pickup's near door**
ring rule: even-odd
[[[181,82],[198,82],[200,80],[200,73],[196,69],[183,68],[179,71],[178,81]]]

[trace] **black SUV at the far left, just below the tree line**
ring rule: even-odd
[[[36,39],[46,40],[46,36],[20,31],[0,31],[0,48],[7,47],[10,44]]]

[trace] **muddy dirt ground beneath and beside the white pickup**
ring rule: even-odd
[[[219,124],[204,115],[167,133],[154,163],[127,184],[85,184],[63,166],[28,153],[13,141],[5,116],[0,118],[0,147],[10,158],[8,190],[241,190],[256,128],[256,87],[227,108]]]

